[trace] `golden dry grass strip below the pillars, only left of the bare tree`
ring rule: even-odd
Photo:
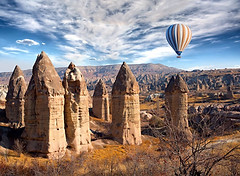
[[[126,175],[133,160],[140,154],[144,154],[144,157],[150,154],[157,156],[158,144],[158,139],[151,138],[143,140],[140,146],[106,145],[103,149],[92,150],[80,156],[65,156],[60,160],[34,158],[25,153],[19,155],[13,150],[3,149],[0,153],[0,175],[66,176],[70,175],[70,170],[71,175]]]

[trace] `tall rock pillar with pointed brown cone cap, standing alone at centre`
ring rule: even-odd
[[[141,144],[139,86],[123,62],[112,89],[113,137],[121,144]]]

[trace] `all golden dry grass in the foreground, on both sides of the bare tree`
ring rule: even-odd
[[[237,139],[237,140],[229,140]],[[240,144],[240,132],[211,140],[226,140],[222,152]],[[0,175],[169,175],[173,172],[170,161],[161,158],[158,138],[143,136],[143,143],[133,145],[106,145],[80,156],[68,155],[59,160],[34,158],[13,150],[0,153]],[[162,146],[166,147],[166,146]],[[234,151],[239,154],[240,150]],[[238,172],[239,164],[222,162],[213,174],[230,175]],[[234,170],[235,169],[235,170]]]

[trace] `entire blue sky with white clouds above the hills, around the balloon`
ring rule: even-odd
[[[55,67],[239,68],[239,7],[239,0],[1,0],[0,72],[32,68],[42,50]],[[165,38],[175,23],[193,35],[181,59]]]

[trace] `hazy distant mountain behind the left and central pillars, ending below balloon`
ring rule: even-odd
[[[100,78],[102,78],[107,83],[107,87],[111,86],[115,81],[120,66],[121,65],[79,66],[78,68],[84,75],[88,83],[89,90],[93,90],[97,80]],[[130,64],[129,67],[136,77],[144,77],[144,75],[165,75],[181,71],[180,69],[167,67],[162,64]],[[66,69],[66,67],[56,68],[56,71],[61,78],[63,78]],[[24,70],[23,73],[25,80],[29,82],[32,71],[30,69]],[[0,85],[8,84],[11,74],[11,72],[0,73]]]

